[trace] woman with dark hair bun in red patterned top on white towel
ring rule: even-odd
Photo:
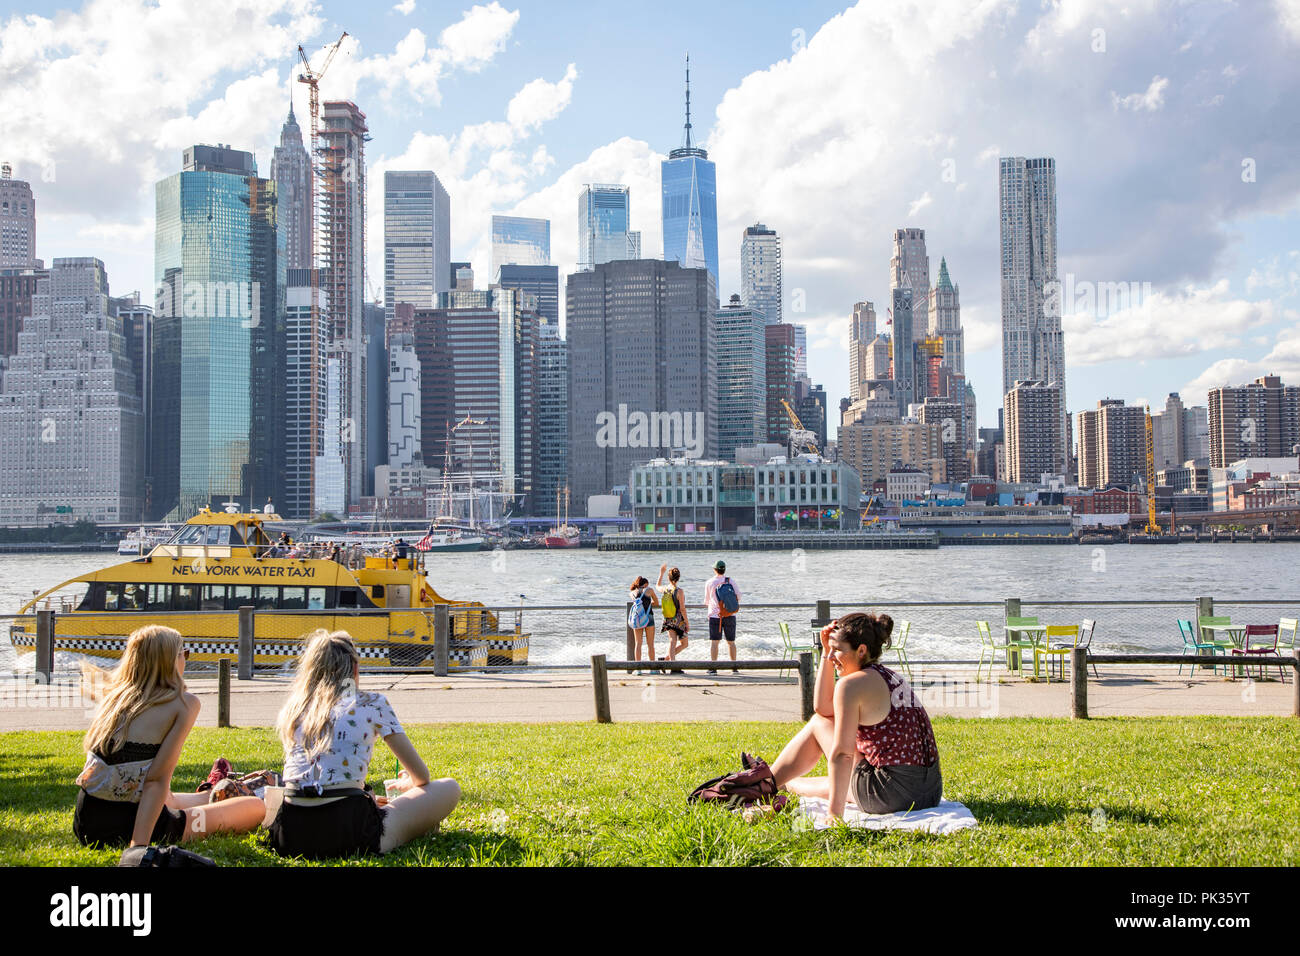
[[[828,800],[836,818],[849,800],[866,813],[897,813],[942,797],[930,715],[907,682],[880,663],[892,632],[888,614],[846,614],[822,628],[816,713],[772,763],[779,787]],[[805,777],[823,756],[829,777]]]

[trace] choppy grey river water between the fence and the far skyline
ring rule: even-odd
[[[680,566],[688,606],[702,601],[711,564],[723,557],[742,598],[740,653],[779,656],[783,649],[776,622],[786,620],[797,640],[809,635],[812,609],[757,609],[758,604],[812,605],[829,600],[835,614],[855,607],[890,613],[911,620],[909,648],[914,659],[974,659],[979,641],[974,622],[991,620],[1001,633],[1002,609],[893,607],[893,602],[1001,602],[1018,597],[1024,613],[1043,623],[1097,623],[1097,650],[1176,653],[1178,618],[1193,615],[1193,600],[1212,596],[1217,613],[1234,622],[1277,623],[1300,615],[1300,545],[1296,544],[1179,544],[1046,546],[949,546],[915,551],[707,551],[601,553],[495,551],[429,555],[429,580],[451,600],[489,606],[525,607],[530,632],[530,663],[585,663],[593,653],[623,657],[627,588],[637,575],[651,581],[660,562]],[[32,591],[117,563],[103,553],[58,555],[0,555],[0,614],[14,614]],[[78,596],[81,591],[77,591]],[[1053,607],[1060,601],[1179,601],[1176,607]],[[1270,601],[1268,606],[1232,601]],[[533,605],[619,605],[603,611],[528,611]],[[1223,605],[1223,606],[1221,606]],[[703,611],[689,609],[693,633],[706,635]],[[514,617],[503,614],[506,623]],[[16,662],[0,620],[0,674],[30,670],[32,654]],[[707,652],[706,640],[692,641],[688,657]],[[656,648],[660,656],[662,646]],[[66,656],[60,656],[62,659]]]

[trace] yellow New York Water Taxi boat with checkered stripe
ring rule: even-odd
[[[283,557],[263,528],[277,520],[204,509],[148,555],[38,594],[14,619],[9,640],[18,653],[35,650],[35,611],[52,607],[55,650],[117,658],[138,627],[165,624],[185,636],[191,662],[214,663],[238,658],[239,609],[251,606],[256,667],[289,665],[304,635],[326,628],[352,635],[363,667],[432,670],[434,607],[447,605],[450,667],[528,663],[520,617],[503,630],[484,605],[441,597],[419,551],[364,557],[358,567]],[[79,584],[79,600],[55,597]]]

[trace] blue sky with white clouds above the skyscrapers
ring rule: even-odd
[[[406,7],[0,1],[0,159],[36,189],[38,254],[98,255],[114,291],[150,289],[153,183],[191,142],[255,148],[269,172],[290,90],[306,122],[295,44],[347,30],[325,94],[368,114],[372,196],[384,169],[434,169],[455,258],[484,272],[490,215],[517,212],[552,220],[571,269],[592,181],[630,185],[658,255],[689,49],[696,138],[719,166],[719,293],[738,291],[744,226],[775,228],[832,401],[853,303],[884,312],[892,232],[920,226],[932,277],[946,256],[961,287],[980,421],[996,420],[998,155],[1057,160],[1062,276],[1149,289],[1066,316],[1071,410],[1300,382],[1300,0]]]

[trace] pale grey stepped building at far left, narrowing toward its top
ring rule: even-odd
[[[140,520],[140,436],[104,263],[56,259],[0,392],[0,524]]]

